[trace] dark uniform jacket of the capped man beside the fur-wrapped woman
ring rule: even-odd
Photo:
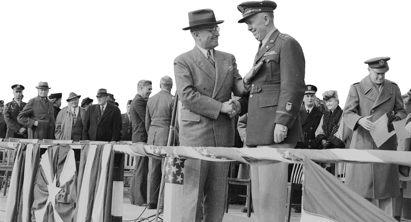
[[[302,122],[301,127],[303,130],[304,142],[299,142],[295,146],[297,149],[316,149],[315,144],[315,131],[320,124],[321,117],[324,115],[315,105],[311,109],[310,114],[307,114],[305,105],[300,108],[300,120]]]

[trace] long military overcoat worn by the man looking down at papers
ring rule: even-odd
[[[358,150],[397,150],[397,137],[394,135],[380,147],[373,142],[369,131],[357,124],[361,117],[371,116],[375,122],[387,110],[394,110],[396,116],[405,118],[405,109],[400,88],[394,82],[384,80],[381,92],[373,86],[369,76],[350,86],[345,102],[343,118],[353,130],[350,149]],[[388,131],[387,131],[388,133]],[[366,198],[388,198],[400,194],[398,165],[383,163],[348,164],[346,184],[353,191]]]

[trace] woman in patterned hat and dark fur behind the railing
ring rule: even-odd
[[[323,93],[328,111],[323,115],[320,125],[315,131],[315,143],[318,149],[349,148],[352,132],[342,120],[343,110],[339,103],[337,90],[328,90]],[[335,164],[327,169],[334,174]]]

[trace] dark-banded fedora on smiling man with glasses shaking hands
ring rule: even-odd
[[[198,28],[203,25],[218,25],[224,20],[216,20],[212,9],[198,9],[189,12],[189,27],[182,28],[182,30],[190,30]]]

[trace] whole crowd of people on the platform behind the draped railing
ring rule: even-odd
[[[407,119],[411,133],[410,106],[405,109],[399,86],[385,79],[389,57],[364,62],[369,74],[350,86],[344,108],[336,90],[316,98],[317,87],[305,83],[305,58],[301,45],[273,23],[272,1],[245,2],[237,6],[247,30],[260,42],[253,67],[242,78],[233,54],[215,50],[219,24],[211,9],[188,13],[195,46],[174,60],[179,108],[179,145],[233,147],[238,131],[244,146],[296,149],[372,149],[397,150],[397,138],[377,146],[370,131],[375,121],[387,115],[387,133],[393,121]],[[150,97],[152,82],[140,80],[137,94],[120,113],[113,94],[97,91],[93,99],[69,93],[68,106],[60,109],[62,94],[49,94],[47,82],[35,88],[38,96],[25,103],[24,86],[11,86],[14,98],[0,101],[0,138],[58,140],[96,140],[146,142],[166,145],[175,97],[173,79],[164,76],[161,90]],[[150,97],[150,99],[149,99]],[[408,116],[407,116],[408,114]],[[238,127],[235,127],[238,126]],[[409,142],[408,142],[409,149]],[[151,169],[148,164],[151,162]],[[180,205],[182,221],[222,221],[226,205],[227,162],[185,160],[184,196]],[[335,168],[324,166],[334,174]],[[256,221],[284,221],[287,195],[287,163],[256,161],[240,168],[251,177],[252,202]],[[396,216],[393,198],[400,196],[398,166],[393,164],[348,163],[346,185]],[[151,171],[151,178],[148,172]],[[408,173],[408,172],[405,172]],[[150,179],[150,187],[147,181]],[[131,183],[130,201],[134,205],[157,208],[157,189],[161,182],[161,160],[137,157]],[[151,201],[147,201],[151,199]],[[244,212],[251,209],[243,209]]]

